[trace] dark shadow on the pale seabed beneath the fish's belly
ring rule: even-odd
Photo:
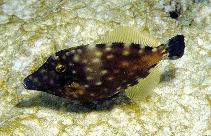
[[[119,93],[114,97],[104,101],[92,101],[81,103],[78,100],[71,100],[60,98],[54,95],[41,93],[27,100],[21,100],[16,104],[17,108],[31,108],[31,107],[44,107],[53,110],[87,113],[92,111],[109,111],[114,106],[122,106],[131,104],[130,99],[124,94]]]

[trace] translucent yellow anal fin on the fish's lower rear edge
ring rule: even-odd
[[[125,90],[126,95],[133,101],[145,99],[160,82],[160,75],[161,64],[157,64],[146,78],[141,79],[137,85],[128,87]]]

